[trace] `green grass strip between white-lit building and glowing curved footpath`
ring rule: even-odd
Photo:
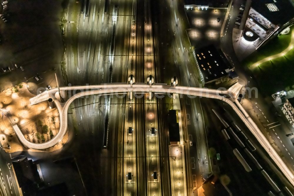
[[[250,67],[253,63],[269,57],[274,54],[282,52],[289,46],[291,41],[291,34],[294,29],[294,26],[291,27],[290,33],[286,35],[280,35],[273,38],[270,42],[261,46],[257,51],[253,52],[243,61],[243,65]]]

